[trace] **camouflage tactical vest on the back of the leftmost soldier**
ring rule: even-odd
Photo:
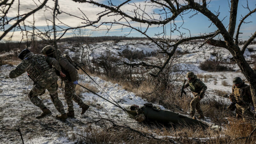
[[[51,67],[46,62],[45,57],[42,55],[32,54],[26,60],[28,60],[30,63],[27,72],[34,80],[43,72],[51,71]]]

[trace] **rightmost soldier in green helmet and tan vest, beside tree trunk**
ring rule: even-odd
[[[250,86],[244,84],[240,77],[233,79],[232,93],[229,96],[231,105],[236,105],[236,118],[246,119],[253,118],[253,113],[250,111],[253,106]]]

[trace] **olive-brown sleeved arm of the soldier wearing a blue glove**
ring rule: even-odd
[[[68,59],[60,60],[60,66],[68,72],[72,82],[77,81],[76,68],[69,63]]]

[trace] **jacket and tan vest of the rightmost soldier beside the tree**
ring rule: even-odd
[[[252,94],[250,86],[243,84],[239,87],[236,87],[235,84],[232,86],[232,93],[229,96],[232,102],[236,102],[239,105],[249,105],[252,104]]]

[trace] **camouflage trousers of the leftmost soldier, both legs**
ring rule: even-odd
[[[49,84],[49,82],[52,82],[52,83]],[[38,98],[38,95],[44,92],[45,89],[49,91],[52,103],[55,106],[55,108],[60,112],[60,114],[64,114],[65,111],[64,111],[62,102],[58,98],[58,93],[57,93],[57,89],[58,89],[57,76],[54,76],[52,78],[52,81],[44,81],[44,80],[38,81],[28,93],[28,98],[34,105],[43,109],[45,105],[43,101]]]

